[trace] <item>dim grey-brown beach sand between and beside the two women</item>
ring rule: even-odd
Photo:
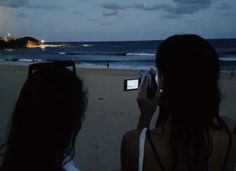
[[[27,65],[0,64],[0,136],[4,137]],[[124,92],[123,80],[137,78],[138,70],[77,68],[88,90],[88,108],[76,141],[76,164],[86,171],[120,170],[120,145],[125,132],[134,129],[139,111],[137,90]],[[223,115],[236,120],[236,78],[221,76]]]

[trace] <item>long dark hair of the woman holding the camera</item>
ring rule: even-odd
[[[200,36],[176,35],[159,46],[156,66],[163,80],[163,102],[157,126],[167,120],[171,123],[172,170],[177,168],[181,152],[186,157],[187,170],[208,170],[213,147],[210,128],[224,128],[229,135],[229,147],[222,166],[224,170],[231,133],[219,116],[217,52]]]

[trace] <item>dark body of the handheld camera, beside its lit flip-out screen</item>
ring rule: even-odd
[[[150,77],[150,83],[148,84],[147,87],[147,98],[152,99],[155,96],[155,92],[158,88],[157,83],[156,83],[156,72],[152,68],[149,71],[142,71],[141,77]]]

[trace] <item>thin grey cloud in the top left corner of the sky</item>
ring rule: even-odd
[[[31,4],[28,0],[0,0],[0,6],[8,8],[32,8],[32,9],[42,9],[42,10],[55,10],[62,9],[63,7],[52,4]]]

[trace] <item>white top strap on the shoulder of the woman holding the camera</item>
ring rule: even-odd
[[[143,128],[139,136],[139,160],[138,160],[138,171],[143,170],[143,159],[144,159],[144,147],[146,139],[147,128]]]

